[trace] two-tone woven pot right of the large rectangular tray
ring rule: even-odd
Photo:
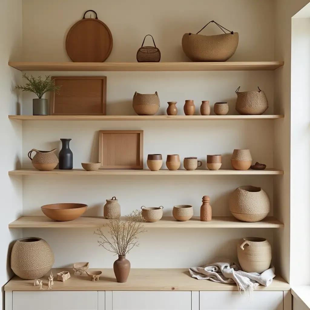
[[[156,114],[160,107],[157,91],[155,91],[155,94],[139,94],[135,92],[132,107],[138,115]]]

